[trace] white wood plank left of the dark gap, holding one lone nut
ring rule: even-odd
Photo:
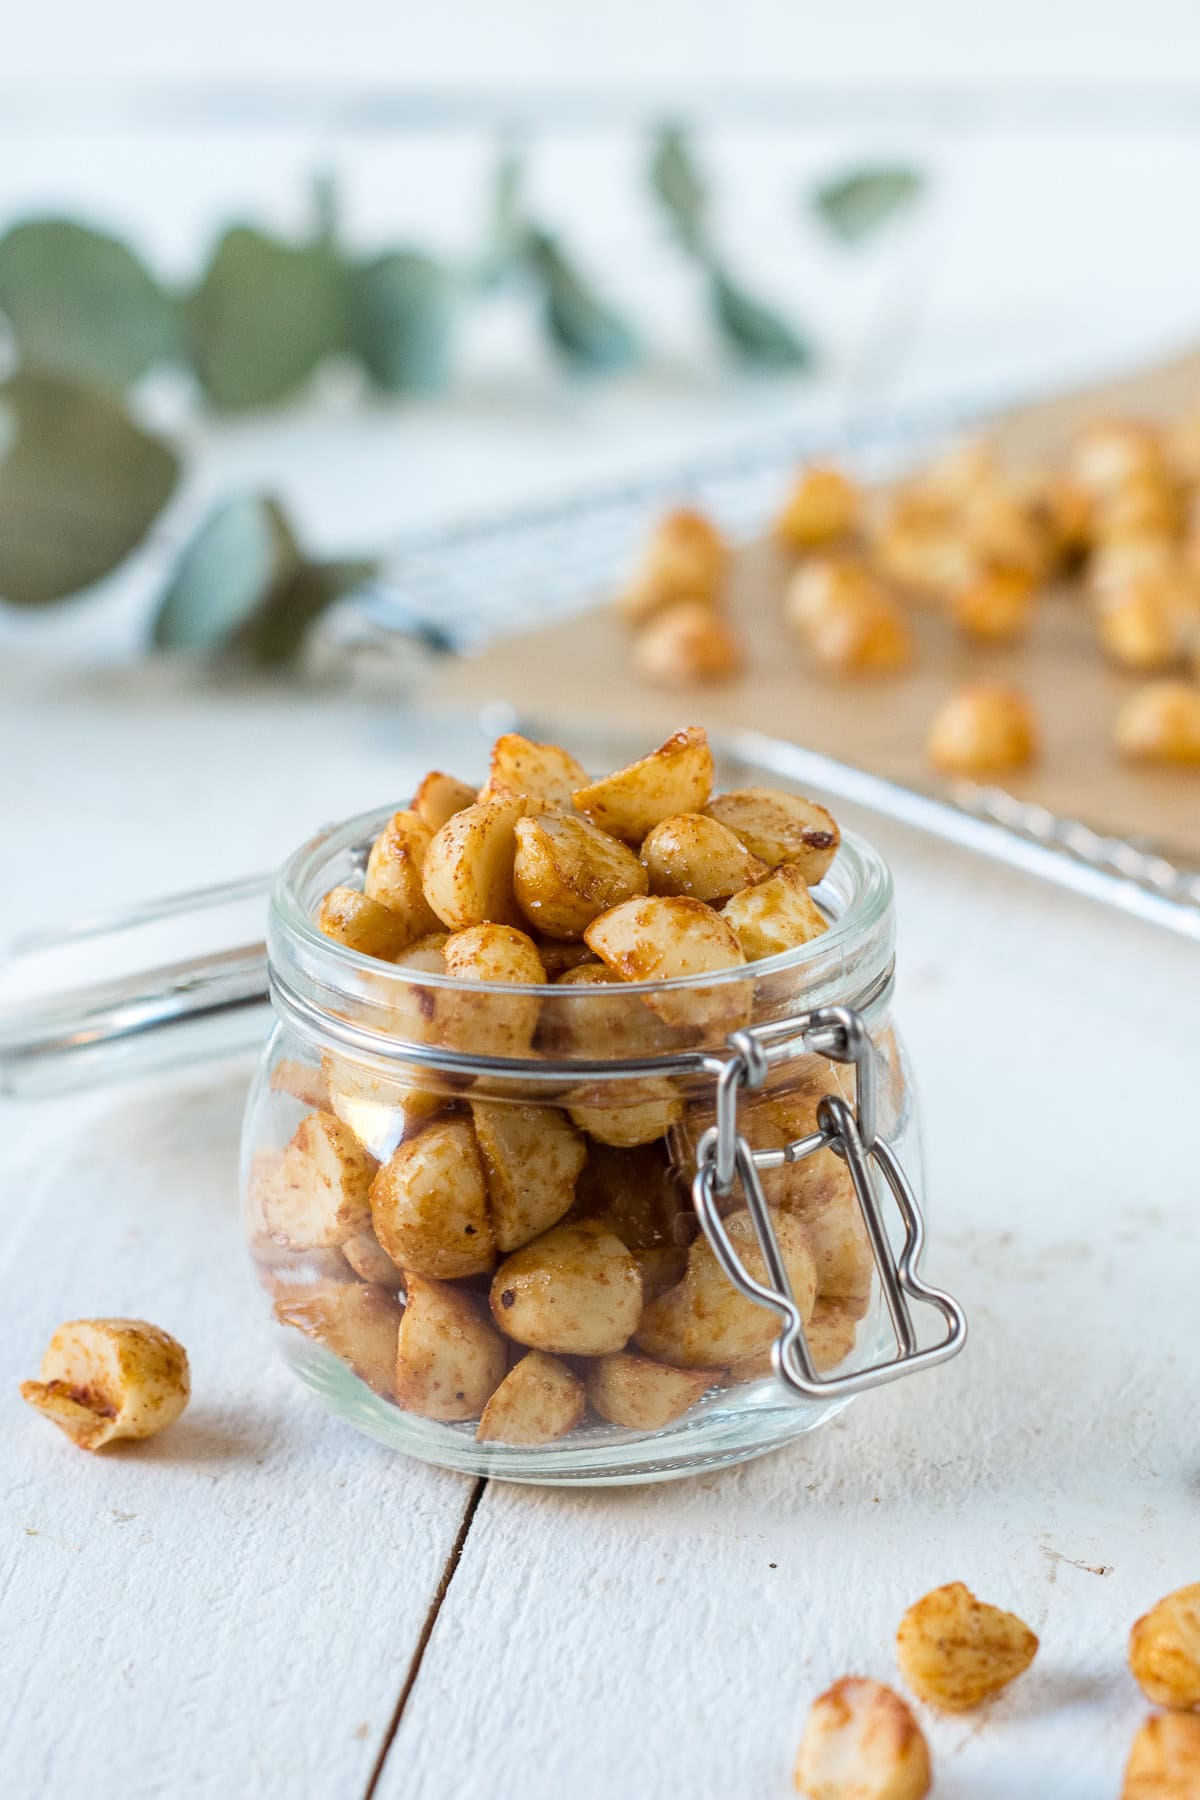
[[[4,1269],[0,1791],[354,1795],[471,1483],[399,1463],[275,1363],[245,1269],[245,1067],[68,1105]],[[23,1408],[65,1318],[193,1364],[184,1418],[88,1458]]]

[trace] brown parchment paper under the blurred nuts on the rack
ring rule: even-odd
[[[1169,418],[1196,401],[1200,353],[1024,407],[995,419],[988,436],[1020,466],[1060,454],[1076,425],[1096,414]],[[633,553],[630,545],[630,558]],[[808,673],[783,628],[786,572],[788,563],[766,544],[738,554],[730,614],[745,634],[748,668],[734,682],[685,693],[640,684],[624,630],[612,608],[599,607],[448,662],[435,675],[430,702],[507,700],[563,731],[572,722],[622,724],[648,747],[682,724],[763,731],[939,792],[925,761],[939,700],[964,680],[1013,682],[1038,711],[1043,751],[1036,769],[1007,781],[1009,792],[1097,832],[1150,841],[1177,860],[1200,862],[1200,772],[1137,769],[1115,758],[1112,720],[1139,677],[1101,659],[1078,589],[1047,596],[1029,639],[1015,648],[966,646],[943,619],[914,612],[918,657],[910,673],[835,680]]]

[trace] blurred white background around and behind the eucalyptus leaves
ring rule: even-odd
[[[815,374],[754,378],[720,355],[646,194],[664,117],[693,130],[721,245],[811,335]],[[513,133],[538,214],[644,329],[644,369],[563,378],[529,310],[498,299],[471,310],[446,396],[363,403],[335,383],[282,414],[191,414],[155,542],[83,605],[0,616],[0,643],[128,653],[175,542],[232,488],[279,491],[322,553],[367,551],[781,423],[1067,385],[1200,326],[1186,0],[20,9],[0,225],[68,212],[182,281],[230,218],[300,229],[311,176],[333,171],[354,245],[470,256]],[[873,160],[919,167],[925,196],[840,247],[802,196]]]

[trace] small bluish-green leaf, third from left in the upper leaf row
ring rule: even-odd
[[[349,344],[376,387],[435,394],[450,376],[453,281],[416,250],[389,250],[351,274]]]

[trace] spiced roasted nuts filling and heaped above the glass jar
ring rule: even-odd
[[[828,931],[810,889],[838,842],[799,796],[712,796],[696,727],[599,781],[509,734],[480,792],[426,776],[371,848],[363,891],[335,887],[317,923],[392,976],[453,977],[394,986],[396,1037],[506,1058],[651,1057],[720,1044],[756,992],[729,972]],[[694,976],[725,979],[673,979]],[[655,986],[626,995],[626,983]],[[716,1384],[770,1372],[777,1321],[727,1282],[691,1210],[709,1096],[648,1075],[551,1105],[536,1089],[439,1089],[432,1073],[378,1075],[342,1055],[320,1071],[282,1064],[275,1082],[315,1107],[252,1174],[277,1318],[405,1411],[533,1445],[588,1406],[657,1431]],[[748,1130],[772,1148],[810,1136],[822,1096],[851,1084],[804,1058],[757,1096]],[[829,1368],[855,1345],[874,1267],[851,1177],[820,1150],[765,1184]],[[729,1233],[761,1276],[750,1217],[730,1206]]]

